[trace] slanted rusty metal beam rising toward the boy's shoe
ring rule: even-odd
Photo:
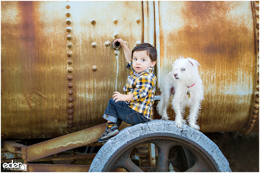
[[[104,123],[51,140],[40,142],[38,144],[25,146],[22,148],[22,158],[25,162],[29,162],[96,142],[97,139],[103,134],[106,126],[107,125]]]

